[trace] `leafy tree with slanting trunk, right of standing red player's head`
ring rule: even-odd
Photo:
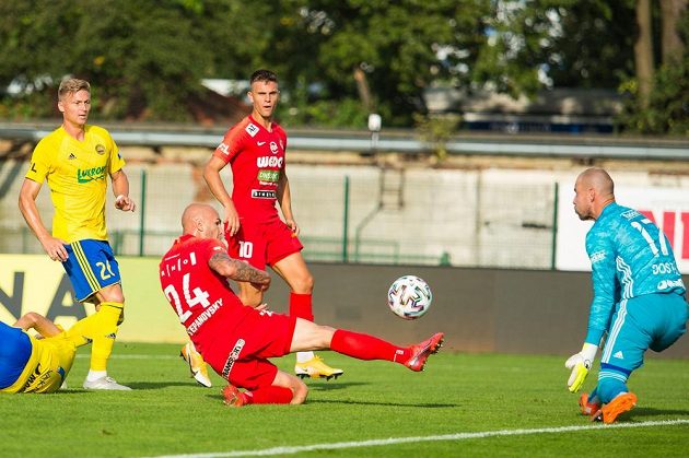
[[[319,86],[335,109],[361,96],[362,127],[370,109],[382,114],[386,126],[409,126],[411,114],[424,109],[423,90],[434,80],[468,82],[490,15],[489,1],[470,0],[288,0],[282,5],[292,12],[285,22],[294,33],[278,39],[281,55],[299,61],[288,79]]]

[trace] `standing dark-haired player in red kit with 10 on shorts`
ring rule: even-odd
[[[314,279],[301,254],[300,228],[292,213],[285,174],[287,134],[272,120],[280,98],[278,77],[269,70],[257,70],[249,83],[252,114],[225,133],[206,165],[203,178],[225,209],[230,256],[259,270],[270,266],[290,286],[290,315],[313,321]],[[232,197],[220,177],[227,164],[232,166]],[[240,298],[246,305],[257,306],[264,292],[250,283],[240,283]],[[296,354],[294,372],[301,377],[327,379],[343,373],[313,352]]]

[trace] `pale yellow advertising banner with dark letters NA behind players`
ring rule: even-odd
[[[177,315],[161,291],[157,258],[118,257],[125,292],[125,322],[118,341],[185,342]],[[0,254],[0,320],[12,325],[27,312],[37,312],[69,328],[94,312],[92,304],[74,301],[65,269],[45,255]]]

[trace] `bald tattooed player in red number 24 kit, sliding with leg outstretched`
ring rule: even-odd
[[[270,275],[230,258],[222,242],[222,220],[212,207],[190,204],[182,226],[184,234],[160,263],[161,286],[197,350],[230,383],[223,389],[229,406],[299,404],[306,400],[306,384],[279,371],[269,357],[330,349],[359,360],[385,360],[422,371],[429,355],[442,345],[442,332],[416,345],[397,347],[262,306],[245,306],[230,289],[229,280],[266,290]]]

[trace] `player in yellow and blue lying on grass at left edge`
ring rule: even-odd
[[[80,319],[68,331],[34,312],[14,326],[0,322],[0,392],[55,392],[74,362],[77,348],[100,333],[103,314]],[[26,331],[34,329],[38,336]]]

